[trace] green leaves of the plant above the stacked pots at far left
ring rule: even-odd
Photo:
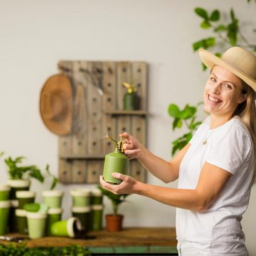
[[[43,182],[44,178],[41,174],[41,170],[37,166],[20,166],[21,162],[25,159],[23,156],[18,156],[16,159],[12,159],[11,156],[4,159],[4,162],[8,166],[9,176],[11,179],[22,179],[27,175],[29,178],[36,178],[38,181]]]

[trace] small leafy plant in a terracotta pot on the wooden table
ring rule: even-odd
[[[129,196],[129,194],[121,194],[116,195],[110,191],[105,190],[102,188],[102,186],[99,186],[100,191],[102,191],[102,194],[107,196],[107,198],[110,199],[112,203],[112,214],[107,214],[106,217],[106,229],[109,232],[116,232],[119,230],[122,230],[122,220],[124,218],[124,215],[118,214],[118,208],[120,203],[123,203],[125,201],[125,198]]]

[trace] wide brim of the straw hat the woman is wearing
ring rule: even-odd
[[[248,75],[243,73],[238,68],[235,68],[233,65],[230,65],[230,63],[226,62],[225,60],[222,60],[221,58],[218,58],[213,53],[210,53],[208,50],[205,49],[199,49],[199,56],[206,67],[211,70],[214,65],[218,65],[222,68],[225,68],[226,70],[229,70],[234,75],[238,76],[238,78],[242,79],[247,83],[247,85],[250,85],[252,89],[256,92],[256,80],[250,78]]]

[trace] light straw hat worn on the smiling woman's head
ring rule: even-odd
[[[208,50],[199,49],[198,51],[207,68],[211,69],[213,65],[223,67],[245,81],[256,92],[256,56],[249,50],[233,46],[228,48],[221,58]]]

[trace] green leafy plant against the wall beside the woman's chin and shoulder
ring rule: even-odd
[[[183,124],[185,124],[188,128],[188,132],[186,134],[183,134],[181,137],[178,137],[178,139],[172,142],[172,156],[174,156],[176,151],[182,149],[184,146],[186,146],[186,144],[188,144],[193,136],[193,133],[202,123],[201,121],[196,120],[196,112],[198,110],[198,106],[201,104],[202,102],[199,102],[196,106],[190,106],[187,104],[183,110],[180,110],[179,107],[175,104],[169,105],[168,113],[171,117],[174,118],[174,121],[172,122],[172,129],[180,129],[183,127]]]

